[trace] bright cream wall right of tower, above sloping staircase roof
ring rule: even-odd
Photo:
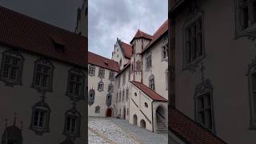
[[[150,75],[154,74],[155,92],[168,99],[168,90],[166,86],[166,70],[168,69],[168,62],[167,60],[162,61],[162,44],[163,38],[146,52],[152,54],[152,67],[150,70],[146,70],[146,53],[142,54],[142,76],[144,85],[149,86]]]

